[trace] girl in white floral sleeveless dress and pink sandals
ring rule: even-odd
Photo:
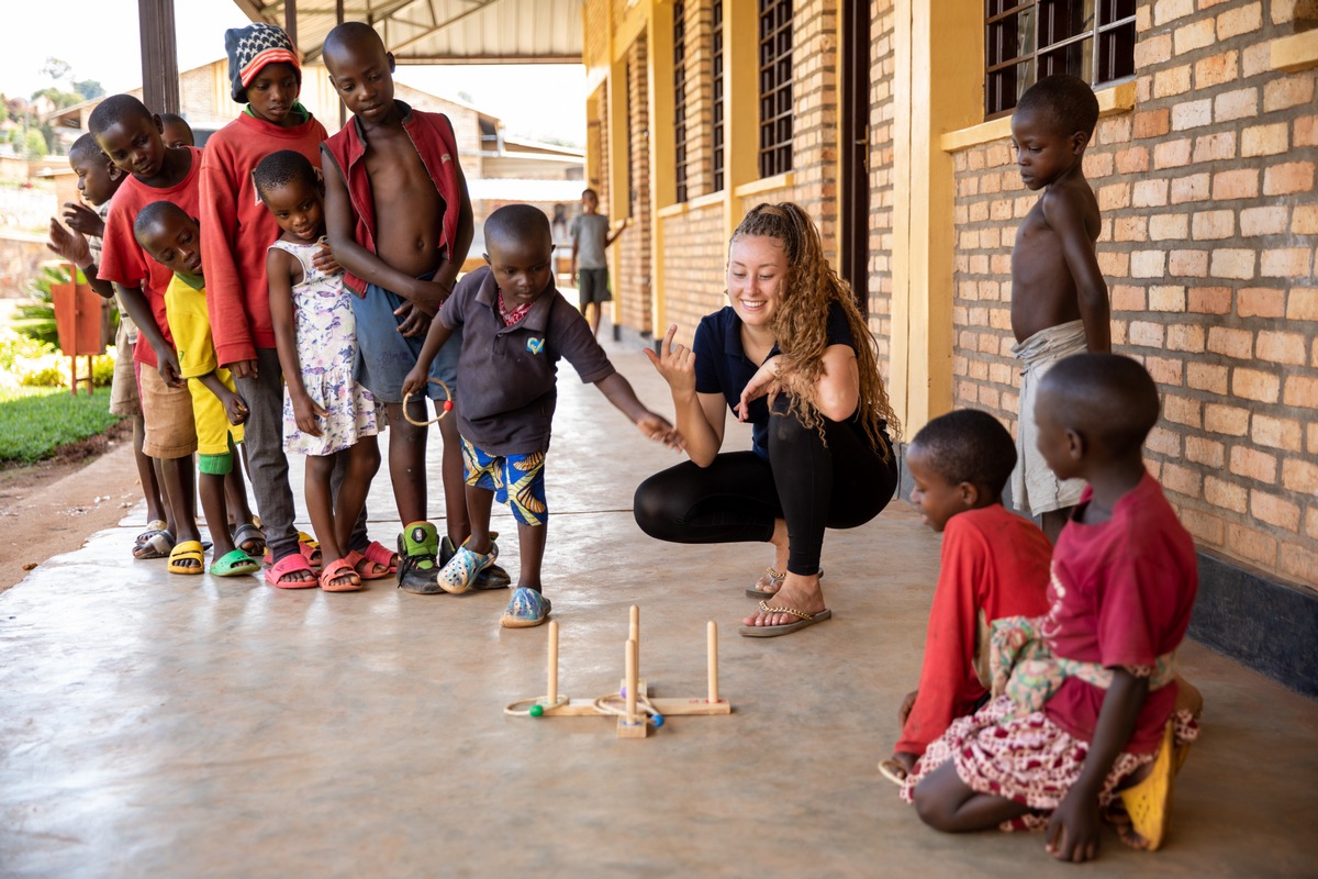
[[[353,523],[366,506],[380,469],[376,401],[353,378],[357,324],[343,274],[315,268],[326,232],[324,186],[302,153],[281,150],[261,159],[253,174],[257,192],[283,229],[270,245],[270,316],[287,391],[283,398],[283,449],[307,457],[307,513],[320,536],[320,588],[361,589],[362,557],[349,550]],[[330,481],[339,459],[347,474],[337,496]]]

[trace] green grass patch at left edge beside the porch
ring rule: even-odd
[[[104,434],[120,420],[108,409],[105,389],[91,397],[86,387],[78,397],[67,387],[0,390],[0,465],[33,464],[61,445]]]

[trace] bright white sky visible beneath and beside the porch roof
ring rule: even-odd
[[[72,66],[76,79],[96,79],[107,92],[141,84],[137,0],[53,0],[5,3],[9,34],[0,53],[0,92],[29,98],[51,84],[42,78],[47,57]],[[224,30],[248,24],[233,0],[175,0],[178,69],[224,55]],[[58,22],[70,22],[59,32]],[[95,34],[98,47],[79,43]],[[21,38],[20,38],[21,36]],[[104,47],[113,46],[115,50]],[[442,98],[471,96],[498,116],[509,134],[585,141],[585,71],[579,65],[399,67],[401,82]],[[527,87],[532,82],[535,87]],[[63,84],[67,88],[67,84]],[[465,99],[463,99],[465,100]]]

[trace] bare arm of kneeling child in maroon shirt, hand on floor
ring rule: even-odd
[[[1098,854],[1098,792],[1112,771],[1135,730],[1135,720],[1149,693],[1149,679],[1136,677],[1124,668],[1112,669],[1112,685],[1098,712],[1094,741],[1085,756],[1085,768],[1062,797],[1048,822],[1048,851],[1058,861],[1090,861]]]

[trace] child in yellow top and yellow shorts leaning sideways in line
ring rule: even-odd
[[[202,511],[215,543],[211,573],[236,577],[256,573],[261,564],[233,544],[225,492],[235,503],[239,522],[250,522],[243,468],[235,465],[235,444],[243,441],[248,409],[233,387],[233,378],[215,361],[211,320],[206,312],[206,278],[202,269],[202,233],[196,220],[171,202],[153,202],[133,221],[142,248],[174,273],[165,291],[169,328],[178,351],[178,377],[187,381],[196,427],[196,467],[200,472]],[[195,560],[195,567],[175,568],[174,557]],[[173,573],[202,573],[202,544],[188,540],[174,548]]]

